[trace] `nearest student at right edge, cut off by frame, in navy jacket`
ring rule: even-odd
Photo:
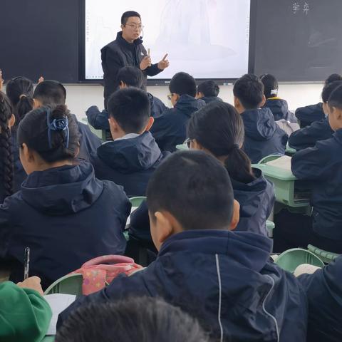
[[[275,252],[308,244],[342,253],[342,86],[328,99],[328,120],[333,138],[296,152],[291,170],[311,191],[311,216],[282,210],[275,219]]]

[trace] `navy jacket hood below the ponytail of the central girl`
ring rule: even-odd
[[[253,217],[261,207],[266,188],[271,186],[262,175],[261,170],[253,168],[253,172],[257,178],[247,184],[231,178],[234,198],[240,204],[240,217]]]

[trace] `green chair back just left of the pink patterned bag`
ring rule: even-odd
[[[76,296],[81,296],[82,284],[82,274],[67,274],[48,286],[44,294],[76,294]]]

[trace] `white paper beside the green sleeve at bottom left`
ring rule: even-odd
[[[58,315],[75,301],[76,296],[74,294],[47,294],[44,299],[52,311],[52,318],[46,335],[56,335]]]

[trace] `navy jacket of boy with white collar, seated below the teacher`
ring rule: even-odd
[[[105,142],[91,156],[95,176],[123,185],[130,197],[145,196],[147,182],[165,154],[150,132],[135,138]]]

